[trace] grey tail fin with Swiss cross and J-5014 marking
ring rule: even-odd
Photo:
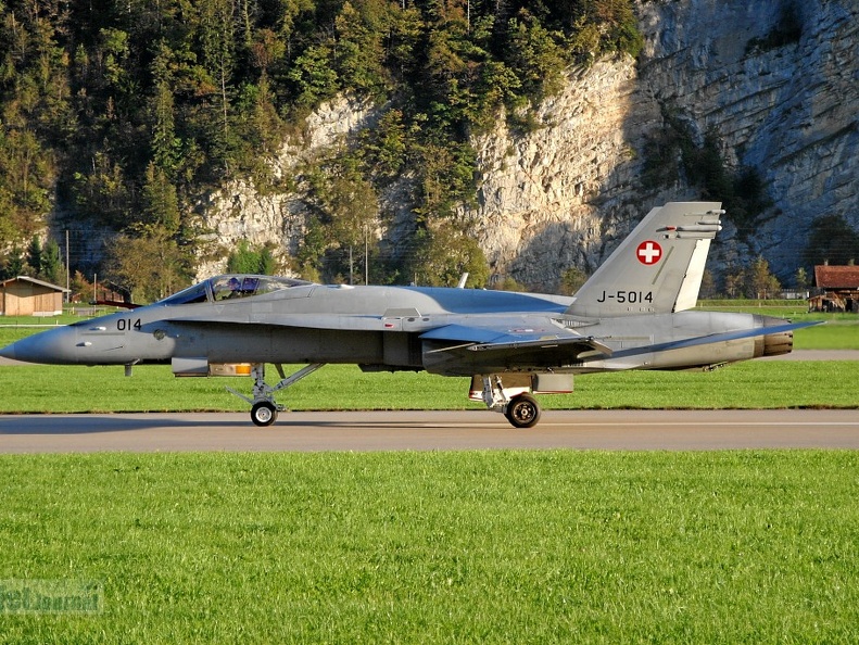
[[[721,202],[654,208],[579,289],[567,313],[612,317],[694,307],[723,213]]]

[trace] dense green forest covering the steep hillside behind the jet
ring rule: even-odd
[[[291,268],[318,277],[407,175],[413,262],[437,283],[453,270],[440,250],[479,271],[452,217],[475,195],[469,136],[502,108],[528,128],[569,64],[641,48],[631,0],[0,0],[0,275],[60,281],[62,240],[33,245],[62,212],[121,233],[87,268],[144,300],[191,278],[194,200],[232,178],[290,181],[269,160],[340,93],[384,112],[308,172],[316,207]],[[265,250],[239,255],[271,268]],[[380,281],[415,270],[379,266]]]

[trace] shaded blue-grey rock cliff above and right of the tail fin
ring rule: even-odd
[[[741,257],[762,253],[788,279],[816,217],[859,228],[859,3],[646,3],[641,25],[641,102],[715,129],[728,162],[763,179],[772,206],[737,244]],[[733,241],[723,236],[723,258]]]

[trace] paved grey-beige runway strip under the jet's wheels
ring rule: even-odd
[[[0,416],[0,453],[786,447],[859,450],[859,412],[547,410],[530,430],[487,410],[282,413],[268,428],[247,414]]]

